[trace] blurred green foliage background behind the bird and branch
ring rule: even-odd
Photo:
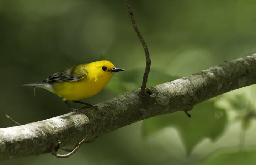
[[[129,2],[152,60],[148,86],[256,52],[256,1]],[[109,60],[126,70],[87,103],[139,88],[145,55],[126,10],[123,0],[0,0],[0,127],[13,126],[4,114],[26,124],[69,112],[57,95],[17,85],[76,64]],[[191,119],[176,112],[120,128],[68,159],[43,154],[1,165],[255,164],[255,89],[199,104]]]

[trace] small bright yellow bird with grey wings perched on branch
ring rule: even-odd
[[[22,84],[20,86],[33,86],[49,90],[62,97],[64,103],[72,111],[79,111],[74,109],[67,100],[94,107],[89,103],[78,100],[89,98],[99,93],[108,84],[114,73],[119,71],[124,71],[124,69],[116,68],[110,61],[95,61],[71,66],[50,75],[41,82]]]

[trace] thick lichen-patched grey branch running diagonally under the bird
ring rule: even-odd
[[[193,75],[124,93],[97,104],[98,110],[82,108],[51,119],[0,129],[0,160],[52,153],[150,117],[191,110],[217,95],[256,83],[256,54],[210,67]],[[185,114],[184,114],[185,115]],[[193,117],[193,116],[192,116]]]

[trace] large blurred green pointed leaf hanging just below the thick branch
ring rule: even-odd
[[[187,154],[190,155],[193,148],[204,138],[215,141],[226,128],[226,111],[216,108],[212,100],[194,106],[189,113],[191,118],[181,111],[144,120],[143,137],[149,137],[166,127],[175,127],[180,133]]]

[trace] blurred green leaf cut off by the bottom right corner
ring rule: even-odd
[[[256,164],[256,151],[240,151],[237,153],[221,153],[197,163],[196,165],[253,165]]]

